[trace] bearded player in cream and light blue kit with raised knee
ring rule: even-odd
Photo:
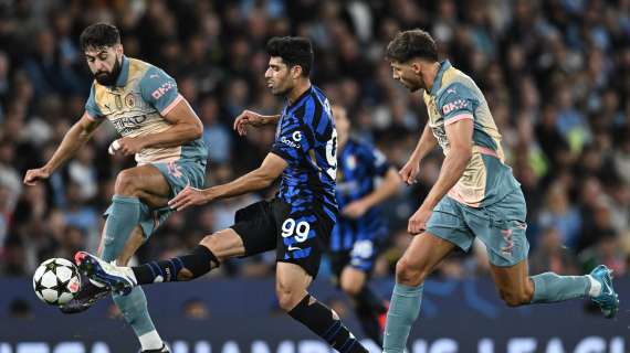
[[[137,167],[116,178],[115,195],[105,212],[98,253],[107,261],[127,264],[137,248],[168,215],[168,200],[187,185],[202,188],[207,149],[202,125],[176,82],[160,68],[123,54],[118,30],[96,23],[81,34],[81,47],[94,74],[83,117],[66,132],[48,163],[29,170],[31,185],[50,176],[70,159],[105,120],[122,136],[111,153],[135,154]],[[62,307],[65,313],[86,310],[107,293],[84,281],[80,296]],[[138,336],[143,352],[168,352],[148,314],[140,287],[114,301]]]

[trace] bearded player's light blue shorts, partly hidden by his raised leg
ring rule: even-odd
[[[170,186],[169,199],[175,197],[186,185],[201,189],[206,184],[206,161],[179,160],[172,162],[151,163],[166,178]],[[150,210],[140,203],[140,226],[146,238],[148,238],[174,212],[169,206]],[[108,216],[112,206],[105,211]]]

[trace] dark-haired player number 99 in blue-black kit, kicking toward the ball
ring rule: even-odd
[[[337,132],[328,99],[308,78],[313,65],[311,42],[304,38],[274,38],[266,49],[271,56],[265,72],[267,87],[274,95],[286,97],[287,103],[277,116],[245,110],[234,127],[244,133],[248,125],[277,122],[271,152],[256,170],[210,189],[187,188],[169,205],[181,211],[262,190],[281,178],[276,196],[238,211],[233,226],[204,237],[185,256],[138,267],[115,266],[84,252],[75,259],[93,280],[127,293],[140,285],[191,280],[228,258],[275,249],[280,307],[337,351],[364,353],[367,350],[337,313],[307,291],[317,276],[338,213]]]

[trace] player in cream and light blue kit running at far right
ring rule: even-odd
[[[395,79],[410,92],[424,90],[429,111],[416,150],[400,170],[402,180],[416,182],[420,161],[437,143],[445,158],[438,181],[409,218],[414,238],[396,266],[384,352],[403,352],[424,279],[455,247],[469,250],[475,237],[486,245],[492,277],[508,306],[590,297],[605,317],[615,317],[619,299],[603,265],[586,276],[528,275],[525,200],[475,83],[449,61],[438,61],[435,42],[421,30],[398,33],[386,56]]]

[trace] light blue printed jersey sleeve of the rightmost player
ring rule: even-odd
[[[474,119],[477,99],[470,88],[461,83],[454,83],[444,88],[438,99],[438,109],[444,118],[444,125],[461,119]]]

